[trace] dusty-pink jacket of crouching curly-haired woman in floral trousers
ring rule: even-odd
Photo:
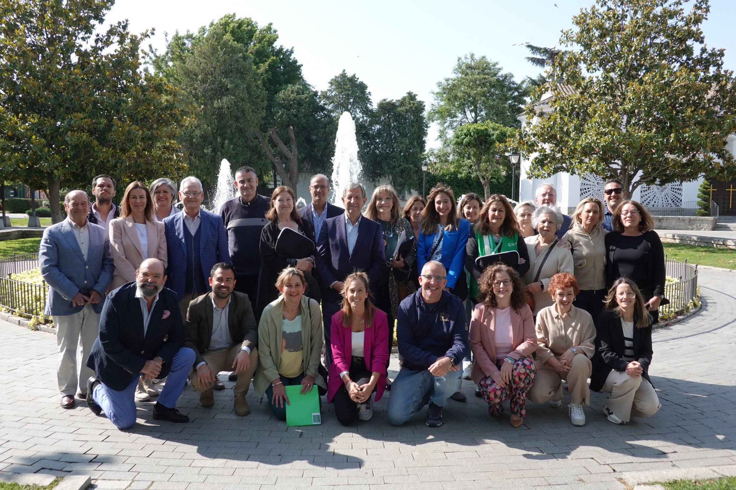
[[[481,382],[485,376],[490,376],[498,371],[496,367],[495,346],[495,313],[496,309],[478,303],[473,309],[470,317],[470,349],[473,350],[475,362],[470,378],[475,384]],[[537,350],[537,332],[534,329],[534,320],[531,317],[531,309],[524,305],[521,309],[511,310],[512,344],[514,350],[509,356],[514,359],[528,357]]]

